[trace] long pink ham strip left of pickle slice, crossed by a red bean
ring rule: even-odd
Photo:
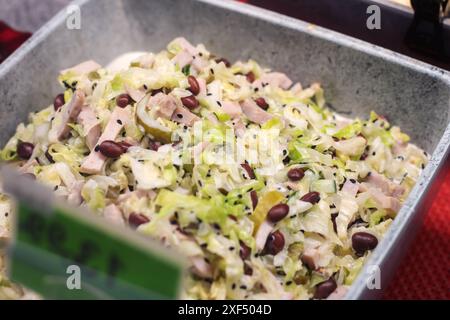
[[[125,124],[131,120],[131,113],[129,108],[116,107],[111,114],[111,117],[106,125],[105,130],[98,139],[97,145],[103,141],[114,141]],[[96,174],[102,171],[105,164],[106,157],[101,152],[93,150],[89,156],[84,160],[80,167],[80,171],[88,174]]]

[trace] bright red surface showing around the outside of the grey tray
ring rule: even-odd
[[[29,36],[0,22],[0,62]],[[384,299],[450,300],[450,171]]]

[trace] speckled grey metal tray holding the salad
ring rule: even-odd
[[[307,84],[321,82],[327,100],[350,116],[386,115],[432,160],[367,261],[347,299],[379,296],[414,237],[449,153],[450,74],[394,52],[280,14],[225,0],[79,0],[81,29],[61,11],[0,66],[0,144],[29,112],[49,105],[58,70],[92,58],[107,63],[130,50],[157,51],[173,38],[230,60],[252,57]],[[381,269],[369,290],[366,268]]]

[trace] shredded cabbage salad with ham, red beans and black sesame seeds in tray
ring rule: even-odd
[[[342,298],[428,161],[385,117],[333,112],[320,84],[184,38],[58,80],[1,160],[179,249],[186,299]],[[0,193],[1,240],[11,210]],[[30,297],[0,258],[0,298]]]

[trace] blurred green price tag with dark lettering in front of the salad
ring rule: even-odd
[[[93,214],[49,202],[43,187],[15,179],[9,186],[4,179],[17,199],[11,280],[49,299],[178,297],[184,264],[168,249]]]

